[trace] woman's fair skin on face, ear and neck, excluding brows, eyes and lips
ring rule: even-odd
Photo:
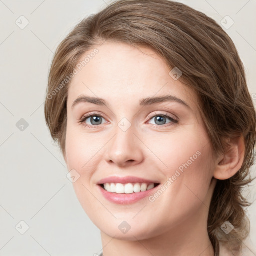
[[[196,95],[169,75],[156,53],[108,41],[95,47],[98,54],[69,84],[65,161],[69,171],[80,175],[74,190],[101,230],[104,256],[213,256],[207,233],[210,200],[216,178],[229,178],[241,166],[243,140],[230,140],[229,152],[215,159]],[[169,94],[189,107],[175,101],[139,106],[141,98]],[[109,106],[80,102],[72,108],[81,95],[103,98]],[[92,128],[79,122],[93,112],[103,115],[101,124],[92,124],[90,117],[86,124]],[[166,113],[177,117],[178,123],[166,118],[157,124],[156,117]],[[118,127],[123,118],[131,124],[125,132]],[[153,202],[146,197],[115,204],[96,185],[108,176],[127,175],[164,184],[197,151],[200,156]],[[131,226],[125,234],[118,228],[123,221]]]

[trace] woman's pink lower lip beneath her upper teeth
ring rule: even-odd
[[[152,189],[143,191],[143,192],[124,194],[124,193],[108,192],[104,188],[102,188],[100,185],[98,185],[101,193],[107,200],[109,200],[110,202],[118,203],[118,204],[135,203],[135,202],[145,198],[146,196],[149,196],[151,193],[154,193],[156,188],[158,188],[158,186],[159,185],[155,186]]]

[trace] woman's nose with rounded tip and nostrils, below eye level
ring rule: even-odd
[[[135,135],[132,126],[123,131],[116,127],[115,135],[108,143],[106,161],[119,167],[136,165],[143,161],[143,143]]]

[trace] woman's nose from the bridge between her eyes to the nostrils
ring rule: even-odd
[[[135,132],[134,127],[126,118],[119,121],[114,130],[115,135],[109,141],[106,160],[115,162],[117,165],[142,160],[141,145],[133,134]]]

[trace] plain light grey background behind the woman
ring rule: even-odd
[[[234,21],[224,30],[239,51],[256,101],[256,0],[180,2],[218,23],[226,15]],[[0,0],[0,255],[93,255],[101,251],[100,232],[80,206],[66,177],[64,159],[47,130],[43,102],[57,45],[82,18],[109,3]],[[17,20],[24,25],[21,15],[29,21],[24,29],[15,24]],[[21,118],[28,123],[23,131],[16,127]],[[255,200],[253,185],[251,200]],[[256,244],[255,203],[248,214],[251,241]],[[24,234],[19,233],[25,228],[21,220],[29,226]]]

